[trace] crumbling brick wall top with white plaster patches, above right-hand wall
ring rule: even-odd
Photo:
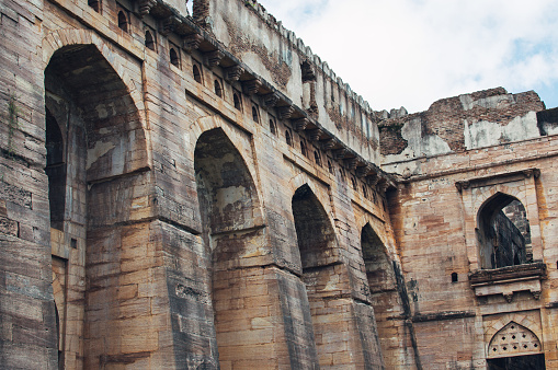
[[[425,112],[379,124],[384,163],[538,137],[536,113],[544,108],[535,92],[510,94],[503,88],[440,100]]]

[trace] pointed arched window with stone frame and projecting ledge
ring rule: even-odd
[[[528,169],[459,181],[469,280],[477,297],[531,291],[546,276],[538,220],[537,178]]]

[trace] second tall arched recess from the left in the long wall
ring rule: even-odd
[[[220,367],[246,367],[258,361],[264,366],[275,344],[270,338],[271,328],[258,325],[270,321],[272,303],[262,275],[262,262],[270,251],[255,184],[221,128],[200,136],[194,167],[202,238],[205,252],[212,255]]]

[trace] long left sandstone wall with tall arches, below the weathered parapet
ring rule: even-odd
[[[2,32],[13,35],[2,41],[13,56],[3,104],[19,109],[1,125],[2,362],[383,367],[361,236],[369,224],[397,259],[391,180],[368,152],[355,157],[352,139],[316,120],[300,128],[297,105],[266,104],[273,82],[262,79],[267,90],[254,95],[250,70],[230,79],[232,55],[209,60],[210,24],[169,5],[2,8]],[[33,46],[15,42],[23,32]],[[189,32],[203,35],[198,47],[184,46]],[[60,139],[48,141],[55,127]],[[47,175],[45,148],[60,142],[55,164],[65,170]],[[52,198],[53,223],[49,176],[64,193]],[[301,257],[320,248],[299,251],[300,188],[329,234],[327,256],[308,268]],[[311,211],[297,215],[314,222]],[[386,348],[403,356],[403,342]]]

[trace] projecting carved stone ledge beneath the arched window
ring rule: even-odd
[[[540,280],[546,278],[544,263],[508,266],[496,269],[480,269],[469,274],[475,296],[487,297],[502,294],[508,302],[513,293],[531,291],[535,299],[540,298]]]

